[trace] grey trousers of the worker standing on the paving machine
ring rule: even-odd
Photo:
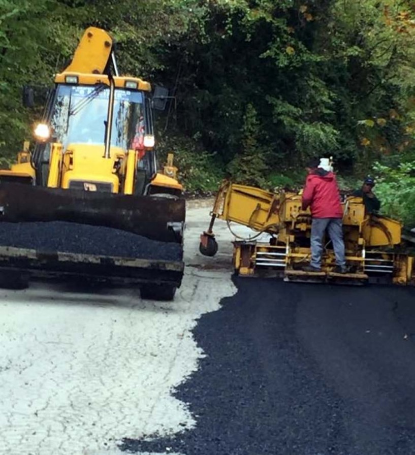
[[[346,266],[344,257],[343,229],[341,218],[313,218],[311,223],[311,262],[310,265],[318,269],[322,266],[323,236],[327,229],[333,243],[336,264]]]

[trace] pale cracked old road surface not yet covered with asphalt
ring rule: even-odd
[[[0,289],[1,454],[114,455],[121,438],[197,425],[172,391],[203,356],[190,332],[197,319],[236,291],[224,222],[217,256],[199,253],[209,207],[187,211],[187,265],[174,303],[123,289]]]

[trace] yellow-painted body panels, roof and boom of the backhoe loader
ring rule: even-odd
[[[141,78],[109,76],[104,73],[110,60],[112,47],[112,38],[105,30],[97,27],[87,28],[71,63],[62,73],[55,76],[55,84],[70,88],[74,87],[75,80],[75,85],[80,87],[97,85],[110,87],[113,83],[114,88],[118,90],[129,91],[132,90],[131,87],[135,87],[133,90],[138,92],[150,92],[150,83]],[[25,147],[28,148],[28,145],[25,144]],[[110,192],[134,193],[136,173],[129,172],[129,169],[137,169],[138,161],[141,159],[140,154],[135,150],[111,147],[110,157],[105,157],[103,145],[91,146],[87,143],[77,143],[64,147],[63,144],[52,143],[50,149],[48,187],[70,188],[71,182],[79,182],[85,183],[84,189],[89,191],[95,191],[98,186],[104,185],[105,188],[111,186]],[[152,147],[146,147],[144,150],[149,154],[153,153]],[[24,161],[22,161],[23,156],[26,158]],[[182,185],[175,178],[160,176],[159,174],[163,172],[164,170],[153,172],[151,176],[157,189],[166,187],[170,193],[181,193]],[[10,170],[0,170],[0,180],[35,181],[35,174],[33,159],[29,152],[25,151],[19,153],[17,164]]]

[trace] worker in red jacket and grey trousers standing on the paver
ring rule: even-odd
[[[320,159],[312,159],[306,168],[308,175],[303,191],[302,209],[306,210],[310,207],[311,211],[311,261],[310,265],[302,270],[321,272],[323,237],[327,230],[336,256],[334,272],[346,273],[342,229],[343,210],[336,176],[319,165]]]

